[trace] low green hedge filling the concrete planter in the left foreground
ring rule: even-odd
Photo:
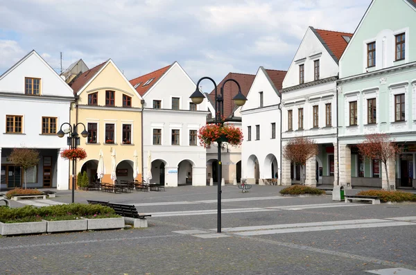
[[[60,204],[35,208],[24,206],[10,209],[0,208],[0,222],[35,222],[40,220],[76,220],[80,217],[115,218],[114,209],[99,204]]]

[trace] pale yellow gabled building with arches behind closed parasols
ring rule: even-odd
[[[133,180],[135,160],[135,179],[140,181],[143,155],[141,96],[112,60],[85,71],[69,85],[76,94],[76,103],[71,106],[71,125],[83,123],[89,132],[87,138],[80,136],[78,147],[85,149],[87,158],[76,163],[76,173],[87,171],[89,181],[94,181],[102,150],[105,167],[102,182],[112,183],[114,174],[118,181]],[[83,125],[78,125],[78,134],[83,130]],[[135,157],[135,152],[138,157]]]

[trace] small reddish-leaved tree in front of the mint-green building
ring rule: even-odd
[[[387,179],[387,189],[390,190],[390,181],[388,179],[387,162],[395,159],[401,151],[399,146],[387,134],[367,134],[365,140],[358,144],[358,150],[363,156],[369,159],[375,159],[384,163],[385,177]]]

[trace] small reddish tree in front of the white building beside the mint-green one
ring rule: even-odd
[[[318,154],[318,145],[313,139],[308,139],[304,136],[297,136],[295,139],[288,141],[283,149],[283,156],[288,161],[301,166],[300,182],[304,184],[304,166],[306,161]]]

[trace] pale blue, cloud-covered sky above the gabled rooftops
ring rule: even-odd
[[[0,75],[33,49],[129,80],[177,61],[197,82],[287,70],[308,26],[353,33],[371,0],[0,0]],[[205,90],[204,90],[205,91]]]

